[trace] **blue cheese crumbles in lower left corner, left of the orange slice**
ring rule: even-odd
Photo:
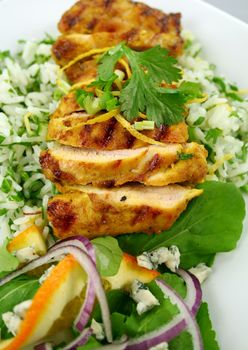
[[[32,300],[23,301],[22,303],[16,305],[13,311],[5,312],[2,315],[3,322],[5,323],[9,332],[14,336],[16,336],[18,333],[20,324],[31,304]]]

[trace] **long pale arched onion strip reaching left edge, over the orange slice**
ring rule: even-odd
[[[106,338],[109,342],[112,342],[112,329],[111,329],[111,320],[110,320],[110,312],[108,307],[107,298],[105,295],[104,288],[102,286],[101,278],[96,269],[95,264],[91,260],[91,258],[80,248],[75,246],[66,246],[66,247],[57,247],[56,249],[50,250],[45,256],[37,258],[19,270],[9,274],[0,280],[0,286],[6,284],[12,279],[20,276],[30,270],[33,270],[39,266],[47,264],[51,262],[53,259],[56,259],[64,254],[71,254],[78,261],[78,263],[82,266],[82,268],[86,271],[89,281],[92,280],[94,291],[97,296],[97,299],[100,304],[102,319],[104,324],[104,329],[106,333]],[[92,311],[92,310],[91,310]]]

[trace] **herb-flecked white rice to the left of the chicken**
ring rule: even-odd
[[[57,106],[58,69],[44,42],[26,42],[0,59],[0,244],[34,223],[49,231],[42,213],[55,189],[41,173],[39,154]]]

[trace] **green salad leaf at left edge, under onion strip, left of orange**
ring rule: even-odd
[[[0,287],[0,330],[1,338],[8,339],[8,332],[2,315],[25,300],[32,299],[39,288],[39,281],[34,277],[20,276]]]

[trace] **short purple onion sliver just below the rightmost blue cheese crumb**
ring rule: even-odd
[[[202,301],[202,290],[199,280],[190,272],[177,269],[177,274],[181,276],[187,286],[187,295],[184,299],[188,308],[191,310],[192,314],[195,316]]]

